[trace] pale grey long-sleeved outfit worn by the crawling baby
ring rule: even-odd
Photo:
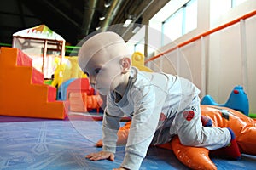
[[[137,170],[150,144],[165,144],[178,135],[184,145],[216,150],[230,143],[227,128],[202,127],[200,90],[188,80],[165,73],[131,68],[128,86],[119,102],[108,95],[103,117],[103,150],[115,152],[119,120],[132,117],[121,166]]]

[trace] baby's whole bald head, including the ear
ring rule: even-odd
[[[108,94],[130,70],[131,52],[118,34],[101,32],[84,42],[79,51],[79,66],[89,74],[94,88],[101,94]]]

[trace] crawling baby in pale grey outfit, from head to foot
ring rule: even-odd
[[[139,169],[150,144],[165,144],[174,135],[184,145],[219,149],[233,159],[241,156],[230,128],[202,126],[200,90],[192,82],[131,67],[131,53],[118,34],[106,31],[90,37],[79,51],[79,66],[91,86],[107,95],[102,151],[86,158],[114,161],[119,121],[125,115],[131,116],[131,128],[124,160],[115,170]]]

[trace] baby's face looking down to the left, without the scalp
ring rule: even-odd
[[[84,70],[90,85],[102,95],[108,95],[119,86],[121,71],[120,58],[111,57],[104,50],[91,57]]]

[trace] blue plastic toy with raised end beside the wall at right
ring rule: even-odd
[[[249,114],[249,102],[247,94],[244,92],[241,86],[236,86],[230,93],[228,101],[224,104],[218,104],[212,99],[212,96],[206,95],[201,99],[201,105],[218,105],[223,107],[229,107],[236,111],[241,111],[248,116]]]

